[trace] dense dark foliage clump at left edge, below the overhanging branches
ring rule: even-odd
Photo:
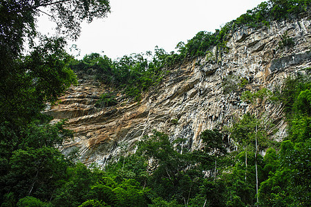
[[[70,56],[64,44],[63,39],[43,38],[30,55],[1,70],[1,123],[29,124],[41,117],[46,101],[55,101],[57,95],[76,83],[73,71],[67,68]]]

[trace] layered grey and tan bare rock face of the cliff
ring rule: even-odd
[[[46,110],[55,121],[67,118],[68,128],[75,132],[75,139],[66,141],[62,152],[78,150],[79,160],[102,166],[120,155],[124,146],[135,150],[135,142],[152,130],[167,133],[171,140],[184,138],[184,147],[193,150],[200,148],[200,132],[222,130],[245,112],[261,112],[278,129],[272,138],[282,139],[286,123],[281,103],[263,101],[255,108],[240,97],[243,90],[281,90],[286,77],[311,67],[310,24],[310,19],[300,19],[258,30],[242,28],[229,35],[223,54],[211,48],[206,57],[170,68],[160,86],[142,95],[140,103],[124,101],[119,95],[116,106],[96,108],[95,101],[109,88],[80,80],[79,86],[59,97],[57,106]],[[285,36],[294,46],[280,47]]]

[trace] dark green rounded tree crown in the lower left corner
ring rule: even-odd
[[[18,199],[34,196],[48,200],[64,179],[66,160],[55,148],[16,150],[10,158],[11,170],[6,175],[3,191],[14,192]],[[2,190],[1,190],[2,191]]]

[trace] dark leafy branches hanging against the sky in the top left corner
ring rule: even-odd
[[[1,51],[12,50],[10,55],[18,54],[23,48],[24,38],[36,35],[35,21],[40,14],[47,14],[55,21],[60,34],[66,33],[68,37],[77,39],[82,21],[90,23],[94,18],[106,17],[108,12],[108,0],[1,1]]]

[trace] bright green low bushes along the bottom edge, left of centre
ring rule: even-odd
[[[69,179],[55,195],[55,206],[146,206],[148,188],[135,179],[115,177],[83,164],[68,168]]]

